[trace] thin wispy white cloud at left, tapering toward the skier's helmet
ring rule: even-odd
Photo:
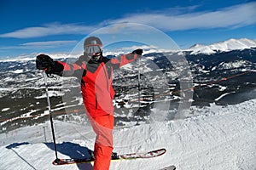
[[[21,30],[1,34],[0,37],[31,38],[63,34],[87,34],[94,29],[95,27],[93,26],[80,26],[78,24],[61,25],[59,23],[53,23],[45,26],[28,27]]]

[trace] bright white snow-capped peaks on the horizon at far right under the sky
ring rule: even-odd
[[[217,52],[228,52],[247,48],[256,48],[256,40],[241,38],[230,39],[224,42],[216,42],[211,45],[195,44],[185,51],[189,51],[191,54],[214,54]]]

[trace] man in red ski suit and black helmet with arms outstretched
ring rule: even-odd
[[[37,56],[37,68],[47,74],[78,77],[84,107],[96,133],[94,170],[108,170],[113,150],[113,70],[141,57],[143,49],[108,59],[102,56],[102,41],[98,37],[84,40],[84,54],[72,65],[54,61],[48,55]]]

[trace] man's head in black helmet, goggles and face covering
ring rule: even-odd
[[[92,60],[102,58],[102,41],[98,37],[87,37],[84,40],[84,54]]]

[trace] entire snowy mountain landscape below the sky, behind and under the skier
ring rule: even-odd
[[[111,170],[157,170],[170,164],[192,170],[255,169],[254,42],[233,39],[211,48],[196,45],[197,51],[147,49],[140,64],[114,71],[114,151],[165,147],[167,152],[154,159],[113,162]],[[208,49],[212,53],[204,53]],[[52,55],[74,59],[66,56]],[[51,164],[55,154],[44,75],[36,70],[34,58],[0,61],[0,169],[15,169],[17,164],[19,169],[92,169]],[[79,81],[55,77],[48,83],[58,154],[83,157],[86,149],[93,149],[95,134],[84,114]],[[193,93],[190,98],[188,92]],[[183,105],[192,106],[181,111]]]

